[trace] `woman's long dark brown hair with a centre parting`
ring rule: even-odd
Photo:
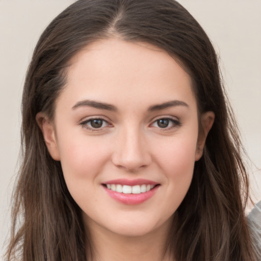
[[[90,42],[111,36],[166,50],[189,72],[199,116],[215,113],[191,187],[176,211],[170,253],[178,261],[253,261],[244,215],[248,177],[217,56],[198,22],[174,0],[80,0],[41,35],[22,96],[22,165],[7,260],[20,255],[24,261],[83,261],[86,246],[92,249],[81,210],[67,190],[60,162],[47,151],[36,114],[53,117],[70,59]]]

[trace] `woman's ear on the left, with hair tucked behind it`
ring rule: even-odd
[[[42,131],[43,138],[51,158],[55,161],[60,161],[60,152],[53,122],[51,122],[47,115],[43,112],[37,113],[36,121]]]

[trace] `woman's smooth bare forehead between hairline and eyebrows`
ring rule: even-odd
[[[64,92],[75,101],[149,106],[172,99],[195,103],[191,86],[189,74],[163,49],[111,38],[87,45],[71,59]]]

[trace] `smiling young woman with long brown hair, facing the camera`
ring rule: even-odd
[[[255,260],[217,57],[177,2],[71,5],[40,37],[22,115],[8,260]]]

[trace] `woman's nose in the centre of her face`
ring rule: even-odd
[[[129,172],[137,172],[151,162],[148,144],[138,128],[121,132],[112,156],[115,166]]]

